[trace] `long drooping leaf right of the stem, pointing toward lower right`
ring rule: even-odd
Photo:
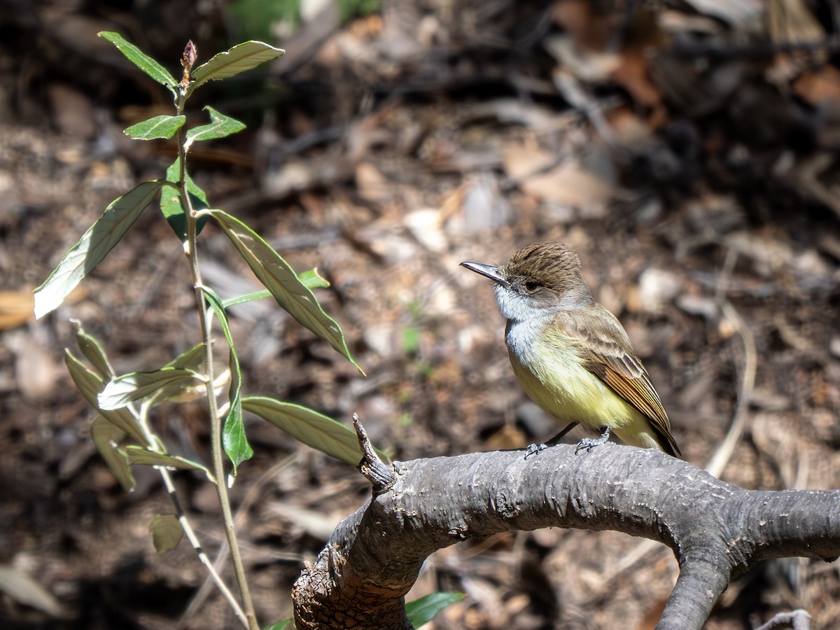
[[[239,219],[222,210],[208,209],[205,212],[216,220],[255,276],[271,291],[277,303],[286,309],[297,323],[309,328],[321,339],[326,339],[364,374],[350,354],[339,324],[323,311],[312,291],[300,281],[286,260]]]

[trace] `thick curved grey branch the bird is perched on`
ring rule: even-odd
[[[668,545],[680,579],[660,628],[702,627],[729,580],[761,559],[840,554],[840,491],[747,491],[649,449],[559,444],[392,470],[295,583],[299,629],[410,628],[403,597],[429,554],[509,530],[612,529]]]

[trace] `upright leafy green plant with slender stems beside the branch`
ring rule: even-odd
[[[207,107],[205,110],[210,122],[185,129],[184,108],[196,89],[207,81],[226,79],[248,71],[282,55],[283,50],[262,42],[249,41],[196,66],[197,50],[190,42],[181,60],[183,76],[181,81],[176,81],[165,67],[119,34],[103,32],[100,36],[108,39],[135,66],[166,87],[175,103],[174,115],[155,116],[132,125],[125,133],[133,139],[142,140],[175,137],[178,157],[166,170],[165,179],[144,181],[108,205],[102,217],[87,229],[79,242],[66,252],[50,277],[35,290],[35,315],[43,317],[58,307],[73,288],[96,269],[160,192],[160,212],[177,238],[181,239],[192,272],[200,340],[158,370],[118,375],[102,344],[86,333],[81,323],[74,322],[76,340],[87,364],[68,349],[66,365],[81,394],[97,411],[91,425],[92,438],[123,488],[127,491],[134,488],[133,465],[155,466],[163,477],[177,513],[158,515],[150,523],[155,549],[161,552],[172,549],[186,534],[243,625],[257,628],[228,501],[228,487],[234,483],[238,466],[253,454],[245,436],[243,410],[255,413],[303,443],[348,464],[358,464],[361,453],[353,430],[329,417],[307,407],[270,397],[243,396],[239,357],[228,327],[228,307],[261,297],[274,297],[280,307],[298,323],[326,339],[340,354],[344,354],[356,367],[359,366],[350,355],[339,324],[323,311],[318,299],[312,294],[313,288],[328,286],[318,276],[318,271],[308,270],[296,274],[251,228],[228,213],[210,207],[207,195],[187,172],[187,157],[193,144],[235,134],[244,129],[244,124]],[[265,291],[222,300],[211,287],[204,284],[198,265],[197,236],[208,219],[217,223],[223,234],[234,244],[234,248],[265,286]],[[228,345],[228,370],[223,375],[217,375],[213,369],[214,320]],[[229,382],[227,396],[222,396],[226,382]],[[150,426],[151,409],[162,402],[177,402],[179,396],[185,397],[185,391],[192,391],[192,397],[197,391],[206,399],[211,423],[210,466],[168,453],[163,440]],[[228,465],[224,460],[225,454],[229,460]],[[200,544],[177,499],[169,472],[171,469],[199,470],[216,486],[239,596],[228,589],[213,569],[213,564],[200,551]]]

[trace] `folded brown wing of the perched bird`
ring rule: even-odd
[[[633,351],[627,333],[612,312],[600,304],[596,304],[595,309],[593,312],[575,311],[574,317],[559,314],[561,325],[585,342],[581,345],[586,369],[648,418],[666,453],[680,454],[671,435],[668,414],[650,382],[648,371]]]

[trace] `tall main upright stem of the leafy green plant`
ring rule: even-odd
[[[183,110],[182,98],[179,99],[178,111]],[[230,509],[228,497],[228,486],[224,470],[224,454],[222,449],[222,419],[218,411],[218,403],[213,391],[213,346],[210,339],[210,318],[207,314],[207,302],[202,292],[202,276],[198,267],[198,252],[196,247],[197,219],[195,210],[190,202],[189,191],[186,187],[186,151],[184,150],[184,132],[178,131],[178,156],[181,166],[180,186],[181,201],[184,204],[186,215],[186,257],[190,261],[190,272],[192,275],[192,286],[196,292],[196,303],[198,307],[198,320],[201,327],[202,339],[204,341],[204,375],[207,377],[207,407],[210,412],[210,451],[213,459],[213,475],[216,477],[216,491],[218,501],[222,507],[222,519],[224,522],[225,537],[228,539],[231,560],[234,565],[234,575],[239,585],[239,594],[242,597],[245,618],[249,630],[259,630],[254,611],[254,602],[251,600],[248,588],[248,580],[245,578],[245,570],[242,564],[242,557],[239,554],[239,543],[236,540],[234,529],[234,516]]]

